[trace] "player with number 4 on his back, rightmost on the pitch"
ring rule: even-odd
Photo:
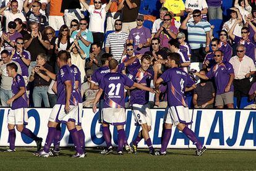
[[[195,88],[194,81],[183,70],[178,68],[179,54],[170,53],[168,56],[168,65],[171,69],[166,70],[158,80],[156,80],[156,90],[159,91],[160,83],[163,81],[168,84],[168,112],[164,117],[164,134],[161,143],[160,152],[156,151],[156,155],[165,155],[166,148],[171,138],[171,127],[176,125],[195,146],[197,146],[196,155],[201,156],[205,152],[205,146],[202,146],[195,133],[190,130],[187,125],[192,123],[189,108],[187,107],[184,92],[187,87],[192,90]]]

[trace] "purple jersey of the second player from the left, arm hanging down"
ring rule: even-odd
[[[57,102],[56,104],[66,104],[66,85],[65,81],[71,81],[72,92],[70,96],[70,105],[77,105],[75,100],[75,75],[74,71],[70,69],[69,65],[64,65],[59,69],[57,74]]]

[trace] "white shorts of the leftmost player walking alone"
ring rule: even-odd
[[[12,125],[27,125],[28,112],[26,108],[10,109],[7,116],[7,123]]]

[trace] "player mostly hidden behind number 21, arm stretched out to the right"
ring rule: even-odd
[[[124,70],[124,68],[127,65],[130,65],[134,62],[135,59],[137,59],[137,57],[139,56],[135,56],[130,58],[129,60],[127,60],[127,62],[122,62],[121,64],[118,65],[118,69],[117,72],[118,73],[122,73],[122,70]],[[92,90],[98,90],[99,89],[99,85],[100,85],[100,81],[103,77],[105,77],[105,75],[107,73],[110,72],[108,64],[109,64],[109,60],[111,60],[113,58],[113,56],[111,54],[105,53],[103,54],[103,56],[101,57],[101,64],[103,64],[103,67],[101,67],[100,69],[96,70],[93,75],[92,75],[92,83],[90,85],[90,88]],[[102,109],[103,109],[103,104],[104,104],[104,96],[102,95],[100,98],[100,107],[99,107],[99,122],[102,123]],[[112,144],[111,144],[111,133],[109,130],[109,125],[105,125],[107,127],[102,127],[103,129],[103,136],[105,138],[106,141],[106,146],[107,148],[104,149],[103,151],[101,151],[101,154],[109,154],[110,152],[113,152],[112,150]],[[125,148],[126,151],[131,152],[132,149],[130,148],[129,144],[127,144],[127,140],[125,141]]]

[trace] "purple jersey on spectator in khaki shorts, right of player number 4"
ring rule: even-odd
[[[234,73],[233,66],[229,62],[216,64],[211,67],[211,70],[207,73],[208,78],[215,78],[215,85],[217,88],[216,94],[225,93],[225,88],[228,85],[230,74]],[[234,91],[233,85],[229,91]]]

